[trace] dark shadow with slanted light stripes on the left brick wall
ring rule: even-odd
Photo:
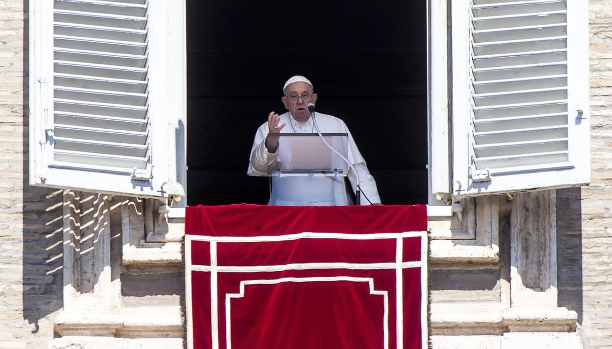
[[[39,320],[62,308],[62,190],[28,184],[28,2],[23,4],[23,318],[39,332]]]

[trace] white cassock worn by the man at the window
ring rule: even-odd
[[[361,205],[370,205],[365,200],[364,194],[372,203],[380,203],[376,182],[370,175],[365,164],[364,157],[361,156],[357,144],[353,140],[351,132],[346,127],[344,121],[335,116],[316,113],[315,114],[319,130],[323,133],[348,133],[348,159],[359,173],[359,186],[362,189],[360,198]],[[307,122],[297,122],[289,116],[289,113],[280,115],[278,125],[285,124],[281,133],[316,133],[312,118]],[[277,168],[277,162],[282,162],[279,158],[279,149],[275,154],[267,151],[265,146],[268,134],[267,122],[264,122],[257,133],[253,148],[251,149],[250,162],[247,174],[250,176],[268,176],[269,168]],[[279,143],[279,148],[282,142]],[[348,179],[353,187],[353,192],[357,189],[357,178],[353,170],[349,170]],[[272,179],[272,195],[268,205],[286,206],[332,206],[349,205],[351,202],[346,195],[344,179],[341,176],[282,176]]]

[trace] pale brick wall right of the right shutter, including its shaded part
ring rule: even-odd
[[[591,0],[591,186],[558,190],[559,306],[585,349],[612,347],[612,1]]]

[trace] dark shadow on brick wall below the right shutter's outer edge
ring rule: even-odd
[[[582,189],[557,190],[558,305],[578,313],[583,320]]]

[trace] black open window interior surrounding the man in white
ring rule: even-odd
[[[248,157],[292,75],[346,122],[384,204],[427,203],[426,6],[187,0],[188,205],[267,203]]]

